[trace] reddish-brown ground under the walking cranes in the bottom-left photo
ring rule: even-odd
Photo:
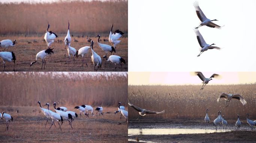
[[[50,107],[49,107],[50,108]],[[104,108],[104,107],[103,107]],[[52,107],[50,108],[52,109]],[[71,111],[77,110],[68,107]],[[120,120],[120,114],[115,115],[113,112],[116,107],[104,108],[104,116],[96,118],[87,118],[85,115],[75,118],[71,129],[67,121],[63,122],[61,126],[62,131],[55,122],[56,127],[52,126],[48,131],[51,121],[45,128],[46,117],[41,112],[39,106],[37,107],[0,107],[1,111],[12,115],[13,122],[9,125],[9,130],[4,131],[6,122],[0,120],[0,139],[1,142],[55,142],[55,143],[70,143],[70,142],[88,142],[88,143],[107,143],[107,142],[127,142],[127,125],[121,123],[125,121],[124,118]],[[17,113],[18,110],[18,113]],[[52,110],[53,111],[53,110]],[[110,112],[107,114],[107,112]],[[78,114],[79,115],[79,114]],[[50,121],[50,122],[49,122]]]

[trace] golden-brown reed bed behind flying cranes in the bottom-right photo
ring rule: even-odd
[[[138,107],[162,111],[164,114],[146,115],[141,120],[204,120],[205,109],[211,122],[217,117],[217,111],[225,114],[226,120],[236,120],[237,113],[241,120],[246,120],[249,113],[251,120],[256,119],[256,84],[249,85],[207,85],[200,90],[201,85],[184,86],[128,86],[128,101]],[[242,105],[240,101],[231,100],[225,108],[223,99],[217,103],[221,93],[241,94],[247,101]],[[129,120],[135,120],[138,112],[129,107]]]

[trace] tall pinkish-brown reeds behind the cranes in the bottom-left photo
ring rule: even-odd
[[[1,106],[127,105],[127,73],[26,72],[0,74]]]

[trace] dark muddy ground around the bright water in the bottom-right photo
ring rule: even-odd
[[[256,140],[256,131],[250,130],[246,120],[241,120],[242,126],[240,130],[235,127],[235,120],[228,120],[227,132],[221,133],[205,133],[205,134],[169,134],[169,135],[135,135],[128,136],[129,143],[136,141],[151,143],[254,143]],[[210,129],[214,130],[215,126],[209,124]],[[204,129],[204,121],[199,120],[129,120],[129,128],[199,128]],[[218,128],[219,130],[219,128]]]

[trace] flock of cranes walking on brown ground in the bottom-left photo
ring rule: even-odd
[[[50,105],[49,103],[46,103],[44,105],[44,106],[47,106],[47,109],[43,108],[41,106],[41,102],[40,101],[38,101],[37,103],[39,104],[42,113],[45,115],[45,117],[47,119],[45,127],[46,127],[46,125],[48,123],[48,118],[50,118],[52,120],[51,127],[52,127],[52,125],[55,126],[54,121],[57,121],[57,123],[59,124],[60,130],[61,130],[61,125],[63,124],[63,121],[66,120],[69,123],[68,125],[70,125],[70,127],[73,128],[72,127],[72,122],[74,121],[74,118],[78,118],[78,115],[77,115],[76,112],[68,111],[68,109],[66,107],[58,107],[58,108],[56,108],[56,102],[54,102],[54,104],[53,104],[54,111],[49,110],[49,105]],[[89,112],[91,112],[92,117],[94,117],[94,114],[93,114],[94,110],[93,110],[93,108],[90,105],[76,106],[76,107],[74,107],[74,109],[77,109],[80,112],[80,117],[81,117],[82,113],[84,115],[86,115],[87,117],[89,117]],[[103,115],[103,107],[96,107],[95,111],[96,111],[96,117],[97,118],[98,118],[98,113],[99,113],[99,116]],[[127,123],[127,127],[128,127],[128,111],[125,110],[124,106],[121,106],[121,102],[118,103],[118,111],[114,112],[115,115],[118,112],[121,112],[120,119],[122,118],[122,116],[124,116],[126,121],[122,122],[122,123]],[[7,113],[2,112],[1,119],[6,121],[5,131],[8,130],[10,121],[13,121],[12,116],[7,114]],[[122,124],[122,123],[119,123],[119,124]],[[49,130],[51,129],[51,127],[49,128]]]

